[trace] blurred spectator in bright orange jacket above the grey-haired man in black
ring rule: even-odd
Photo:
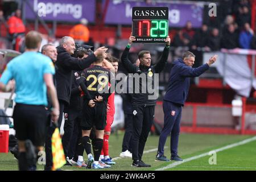
[[[87,27],[87,24],[88,24],[88,20],[85,18],[82,18],[80,21],[80,24],[75,25],[71,29],[69,36],[71,36],[76,43],[84,44],[89,42],[90,32]]]

